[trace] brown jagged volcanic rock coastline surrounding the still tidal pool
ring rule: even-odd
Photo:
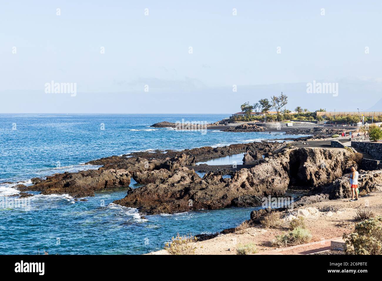
[[[247,126],[237,127],[242,130]],[[258,126],[255,126],[251,129],[257,130]],[[297,129],[292,133],[324,136],[336,132],[332,129],[309,132]],[[349,168],[358,167],[362,159],[346,149],[303,147],[307,143],[299,143],[261,141],[217,148],[205,146],[182,151],[155,150],[110,156],[86,163],[100,165],[97,170],[54,174],[46,179],[34,178],[30,186],[16,185],[21,193],[11,196],[30,197],[33,194],[28,191],[34,191],[44,195],[69,194],[75,200],[85,201],[83,197],[94,196],[98,190],[125,187],[126,196],[113,203],[137,208],[143,215],[256,207],[262,204],[264,197],[285,197],[290,187],[306,191],[295,202],[297,208],[351,197]],[[238,165],[196,165],[200,161],[239,153],[244,153],[244,157],[243,163]],[[201,177],[198,171],[206,174]],[[359,170],[361,195],[382,187],[381,172]],[[142,186],[129,187],[131,178]],[[263,216],[272,211],[287,212],[285,208],[252,211],[248,223],[260,224]],[[230,228],[197,237],[202,241],[234,231]]]

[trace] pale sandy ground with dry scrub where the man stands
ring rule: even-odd
[[[321,250],[330,248],[330,239],[342,237],[344,233],[354,230],[356,221],[353,219],[357,208],[371,208],[374,213],[382,215],[382,191],[376,191],[360,197],[358,201],[349,202],[348,199],[330,200],[304,206],[299,209],[307,209],[311,214],[305,217],[307,228],[311,231],[311,242],[316,246],[313,248]],[[310,208],[310,209],[309,209]],[[315,211],[314,208],[318,210]],[[294,209],[286,214],[286,217],[296,215],[299,209]],[[248,214],[249,217],[249,214]],[[197,255],[235,255],[236,247],[239,244],[255,244],[258,254],[279,254],[271,250],[279,250],[272,247],[270,241],[276,235],[288,230],[288,218],[283,219],[282,224],[277,228],[264,229],[262,226],[251,227],[244,234],[219,235],[214,239],[209,239],[196,243]],[[328,246],[329,245],[329,246]],[[312,248],[311,247],[311,248]],[[326,247],[326,248],[325,248]],[[306,247],[309,250],[309,247]],[[300,249],[285,249],[282,254],[301,253]],[[151,254],[167,254],[166,250],[161,250]]]

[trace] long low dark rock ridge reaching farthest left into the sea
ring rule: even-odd
[[[46,179],[33,178],[32,185],[16,185],[20,191],[40,191],[41,194],[69,194],[73,197],[94,196],[94,191],[104,188],[128,187],[133,177],[140,184],[168,179],[186,165],[197,161],[241,153],[245,150],[270,149],[278,143],[246,143],[212,148],[185,149],[183,151],[143,151],[124,156],[110,156],[86,164],[102,165],[97,170],[65,172]],[[196,175],[197,176],[197,175]],[[198,177],[198,176],[197,176]]]

